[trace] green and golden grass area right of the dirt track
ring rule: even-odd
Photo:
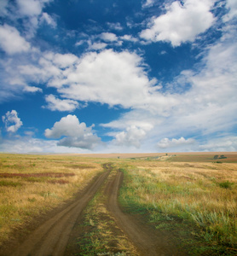
[[[236,164],[133,161],[119,201],[176,234],[190,255],[237,252]]]

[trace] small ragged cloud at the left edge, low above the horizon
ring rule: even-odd
[[[6,130],[8,132],[16,132],[23,123],[18,117],[18,113],[15,110],[7,112],[6,115],[3,115],[3,123],[5,124]],[[14,125],[11,125],[14,124]]]

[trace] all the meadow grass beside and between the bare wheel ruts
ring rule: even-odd
[[[72,199],[110,162],[110,175],[124,173],[119,189],[124,212],[142,218],[154,231],[170,234],[188,255],[236,255],[236,155],[128,154],[125,158],[124,154],[110,154],[97,158],[0,154],[0,246],[35,218]],[[84,225],[89,227],[84,228],[88,235],[80,234],[81,242],[77,241],[81,251],[90,234],[96,237],[94,243],[103,237],[106,244],[100,244],[97,253],[101,247],[109,251],[109,245],[116,243],[116,232],[111,238],[113,231],[109,230],[117,228],[100,191],[84,211]],[[120,244],[122,236],[118,236]],[[125,251],[129,252],[127,246]]]

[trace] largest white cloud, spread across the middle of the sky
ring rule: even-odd
[[[128,51],[105,49],[81,58],[49,52],[38,66],[22,65],[19,70],[28,83],[47,83],[74,101],[159,109],[159,113],[167,112],[176,103],[174,96],[159,93],[160,86],[154,86],[156,79],[148,79],[142,57]]]

